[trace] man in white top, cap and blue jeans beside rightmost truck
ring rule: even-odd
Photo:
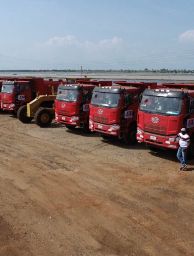
[[[186,128],[182,128],[181,132],[177,134],[176,138],[177,137],[179,137],[179,145],[180,145],[177,152],[177,158],[181,162],[180,171],[182,171],[187,167],[187,164],[186,164],[187,151],[188,151],[188,146],[190,144],[190,137],[187,134]]]

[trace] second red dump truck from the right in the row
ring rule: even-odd
[[[122,138],[126,144],[136,143],[139,96],[157,83],[114,82],[116,86],[95,87],[90,104],[89,129],[103,138]]]

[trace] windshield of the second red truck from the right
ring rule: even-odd
[[[93,92],[91,105],[113,108],[119,106],[119,100],[120,94],[118,93]]]

